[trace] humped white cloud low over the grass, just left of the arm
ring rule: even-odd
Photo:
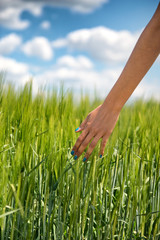
[[[63,56],[49,70],[35,76],[39,85],[59,87],[64,82],[65,89],[70,88],[74,93],[80,94],[80,90],[93,94],[95,89],[100,97],[105,97],[121,72],[120,68],[97,71],[93,63],[84,56]]]

